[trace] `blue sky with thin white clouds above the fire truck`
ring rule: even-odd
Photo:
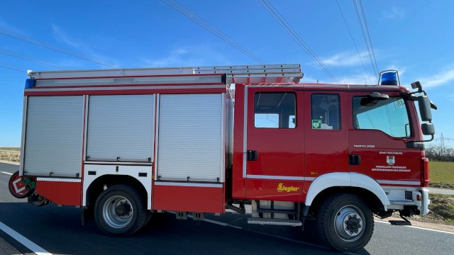
[[[338,0],[348,28],[336,1],[269,2],[336,79],[347,84],[377,82],[353,1]],[[333,83],[259,1],[178,3],[267,64],[301,63],[302,82]],[[433,112],[436,137],[443,132],[454,138],[454,1],[363,1],[362,6],[379,71],[399,69],[405,86],[421,81],[438,105]],[[60,52],[40,47],[43,42]],[[0,147],[20,145],[27,69],[230,64],[260,63],[162,1],[4,1]],[[445,145],[454,147],[454,141]]]

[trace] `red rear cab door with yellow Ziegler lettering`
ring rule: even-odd
[[[248,88],[246,196],[298,201],[304,183],[302,92]]]

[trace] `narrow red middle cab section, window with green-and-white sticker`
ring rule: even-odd
[[[306,200],[311,181],[329,173],[348,172],[348,123],[345,92],[304,92],[306,132],[306,183],[301,200]]]

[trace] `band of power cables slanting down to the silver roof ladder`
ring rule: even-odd
[[[220,30],[218,30],[217,28],[212,26],[210,23],[204,21],[204,19],[200,18],[195,13],[190,11],[188,8],[179,4],[177,1],[172,1],[172,0],[161,0],[161,1],[164,2],[165,4],[167,4],[168,6],[174,8],[175,11],[182,13],[184,16],[186,16],[190,20],[194,21],[197,25],[201,26],[202,28],[205,28],[210,33],[216,35],[218,38],[220,38],[224,42],[227,42],[229,45],[235,47],[240,52],[243,52],[244,55],[255,60],[255,62],[258,62],[260,64],[266,64],[265,60],[263,60],[261,57],[259,57],[258,55],[255,55],[253,52],[246,49],[245,47],[240,45],[238,42],[233,40],[232,38],[228,37],[228,35],[222,33]]]

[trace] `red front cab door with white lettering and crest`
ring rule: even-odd
[[[372,100],[368,93],[351,93],[349,108],[350,171],[371,176],[382,186],[419,186],[421,150],[407,148],[415,139],[414,108],[399,96]]]

